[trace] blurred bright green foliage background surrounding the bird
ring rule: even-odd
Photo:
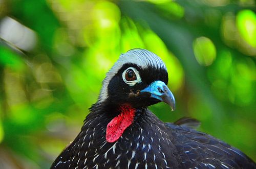
[[[253,0],[2,0],[0,37],[0,168],[49,168],[133,48],[168,67],[177,110],[160,119],[197,118],[256,160]]]

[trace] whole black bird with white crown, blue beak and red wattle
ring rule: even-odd
[[[156,54],[133,49],[106,73],[98,100],[76,138],[51,168],[256,168],[240,150],[196,130],[184,117],[162,122],[148,107],[175,110],[166,65]]]

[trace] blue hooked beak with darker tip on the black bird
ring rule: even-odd
[[[169,90],[166,84],[162,81],[155,81],[151,85],[147,86],[140,92],[151,93],[151,98],[155,98],[162,102],[167,103],[172,111],[175,110],[175,99],[173,93]]]

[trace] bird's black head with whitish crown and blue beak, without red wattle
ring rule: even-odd
[[[133,108],[165,102],[175,110],[174,95],[167,83],[166,66],[156,54],[142,49],[130,50],[121,54],[106,74],[98,102],[129,104]]]

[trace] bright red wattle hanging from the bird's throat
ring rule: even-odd
[[[115,142],[124,130],[133,123],[135,109],[129,105],[120,107],[121,113],[106,126],[106,141]]]

